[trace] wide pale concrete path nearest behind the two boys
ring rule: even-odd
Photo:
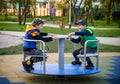
[[[22,43],[25,32],[0,31],[0,48],[14,46]],[[101,44],[120,46],[120,38],[97,37]]]

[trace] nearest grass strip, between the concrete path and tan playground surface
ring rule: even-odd
[[[46,50],[49,53],[57,53],[58,52],[58,46],[57,45],[58,45],[57,40],[47,42],[46,43],[46,46],[47,46]],[[80,44],[77,44],[76,46],[77,46],[76,49],[81,47]],[[65,52],[66,53],[72,53],[73,50],[74,50],[74,44],[71,41],[66,40],[65,41]],[[100,52],[120,52],[120,46],[111,46],[111,45],[100,44]],[[8,47],[8,48],[1,48],[0,49],[0,55],[22,54],[22,53],[23,53],[22,44],[17,45],[17,46],[12,46],[12,47]]]

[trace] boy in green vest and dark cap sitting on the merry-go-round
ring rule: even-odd
[[[68,34],[68,37],[70,38],[72,35],[77,35],[79,36],[77,39],[75,38],[70,38],[72,42],[75,43],[81,43],[82,46],[84,46],[85,41],[87,40],[96,40],[96,36],[94,34],[94,31],[92,28],[87,26],[87,21],[86,20],[81,20],[79,22],[76,22],[75,25],[78,27],[78,32],[72,32]],[[89,43],[87,45],[87,53],[95,53],[97,51],[97,43]],[[81,65],[81,61],[77,57],[78,54],[84,54],[84,47],[77,49],[73,52],[73,56],[75,61],[72,61],[73,65]],[[89,57],[86,57],[87,61],[87,66],[86,69],[92,69],[94,67],[91,59]]]

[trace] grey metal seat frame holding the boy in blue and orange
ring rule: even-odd
[[[43,55],[27,55],[27,54],[24,54],[24,57],[23,57],[23,61],[25,61],[25,58],[30,56],[30,57],[43,57],[43,72],[45,73],[46,71],[46,50],[45,50],[45,42],[42,41],[42,40],[31,40],[31,39],[23,39],[24,41],[29,41],[29,42],[39,42],[40,43],[40,47],[39,49],[43,51]],[[41,61],[41,64],[42,64],[42,61]]]

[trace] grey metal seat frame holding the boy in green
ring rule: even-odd
[[[97,42],[97,52],[95,53],[86,53],[87,44],[90,42]],[[99,67],[99,40],[87,40],[84,43],[84,54],[77,55],[79,58],[83,58],[83,71],[85,73],[85,66],[86,66],[86,57],[96,57],[96,69]]]

